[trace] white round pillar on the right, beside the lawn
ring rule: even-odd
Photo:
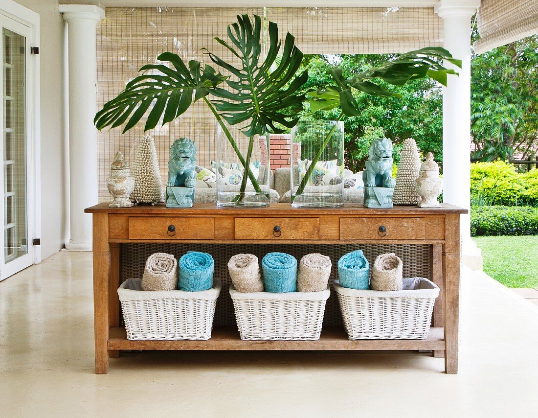
[[[441,0],[435,12],[443,19],[443,45],[462,68],[447,62],[459,76],[449,76],[443,88],[443,201],[470,209],[471,138],[471,17],[480,0]],[[470,216],[461,217],[464,263],[482,269],[482,256],[471,240]]]

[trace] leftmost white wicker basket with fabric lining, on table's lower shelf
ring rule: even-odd
[[[130,278],[118,289],[130,340],[208,340],[221,281],[200,292],[140,290],[140,279]]]

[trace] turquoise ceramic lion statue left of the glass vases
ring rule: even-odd
[[[196,186],[196,145],[189,138],[179,138],[170,147],[167,187]]]

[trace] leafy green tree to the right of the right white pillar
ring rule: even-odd
[[[473,32],[473,38],[478,36]],[[482,161],[531,157],[538,147],[538,36],[471,61],[471,134]]]

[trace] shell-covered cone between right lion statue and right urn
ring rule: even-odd
[[[404,141],[400,154],[396,185],[392,202],[394,205],[418,205],[420,196],[415,190],[415,180],[419,177],[420,156],[413,138]]]

